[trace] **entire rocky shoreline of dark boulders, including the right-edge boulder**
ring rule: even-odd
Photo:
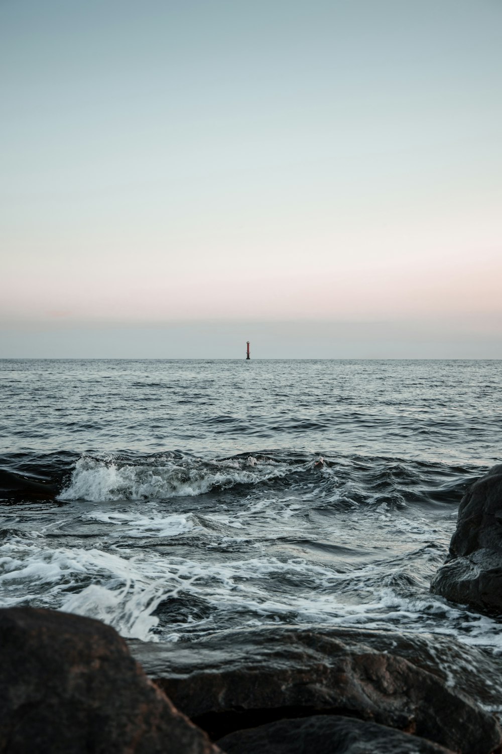
[[[501,522],[499,466],[464,495],[431,589],[500,613]],[[502,662],[446,636],[291,625],[127,645],[90,618],[11,608],[0,654],[0,752],[502,751]]]

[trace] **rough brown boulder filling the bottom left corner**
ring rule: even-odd
[[[217,754],[111,627],[0,610],[0,752]]]

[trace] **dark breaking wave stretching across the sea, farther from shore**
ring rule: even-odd
[[[0,458],[0,500],[113,502],[193,498],[236,490],[291,492],[312,505],[391,508],[457,504],[482,468],[400,458],[301,453],[294,449],[244,452],[208,459],[166,451],[108,456],[60,452]],[[238,492],[239,489],[239,492]]]

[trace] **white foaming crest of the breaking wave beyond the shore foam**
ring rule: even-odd
[[[165,499],[204,495],[219,487],[257,484],[288,473],[285,464],[255,458],[239,463],[192,461],[181,464],[172,458],[156,458],[154,463],[127,464],[82,456],[75,464],[69,485],[60,500],[119,501]]]

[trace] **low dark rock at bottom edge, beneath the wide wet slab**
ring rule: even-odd
[[[316,715],[278,720],[218,741],[227,754],[452,754],[432,741],[385,725]]]

